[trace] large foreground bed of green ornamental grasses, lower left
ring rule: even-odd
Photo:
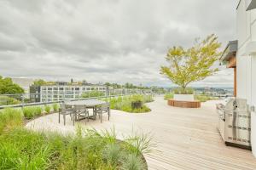
[[[116,133],[77,128],[76,134],[39,133],[23,127],[23,113],[0,113],[0,169],[147,169],[148,135],[120,141]]]

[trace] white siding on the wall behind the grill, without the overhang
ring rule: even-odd
[[[256,56],[253,56],[251,51],[247,51],[247,45],[256,41],[256,9],[246,11],[248,2],[248,0],[241,0],[237,8],[237,97],[247,99],[249,106],[256,106]],[[253,155],[256,156],[255,112],[252,112],[251,119]]]

